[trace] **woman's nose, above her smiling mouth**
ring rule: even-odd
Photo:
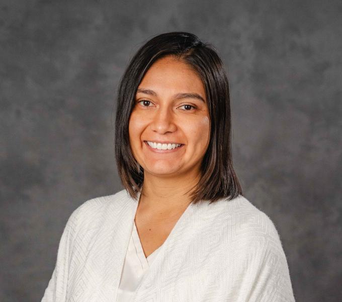
[[[172,109],[167,108],[167,106],[159,107],[158,110],[155,111],[150,127],[152,131],[159,134],[175,132],[177,126],[175,124],[175,116]]]

